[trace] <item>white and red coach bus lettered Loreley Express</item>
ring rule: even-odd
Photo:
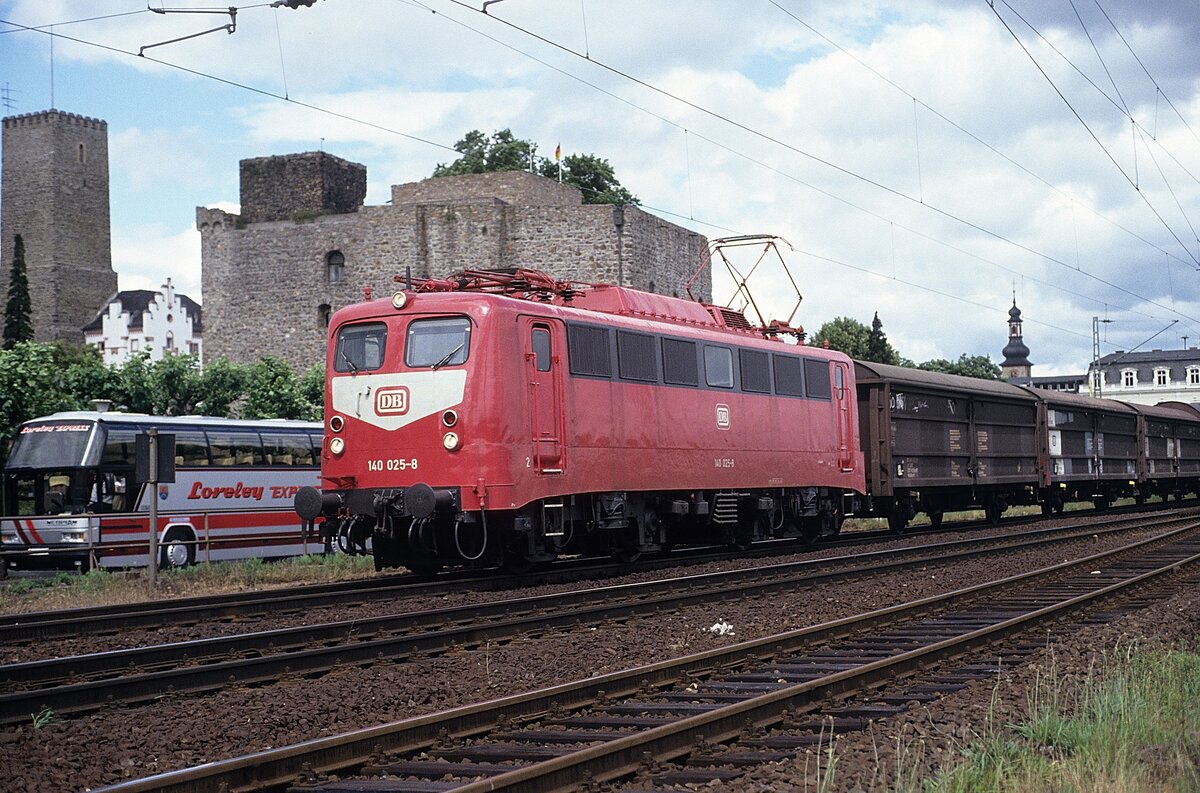
[[[134,440],[175,437],[175,481],[137,481]],[[20,426],[4,467],[0,572],[7,567],[134,567],[320,553],[293,497],[317,486],[319,422],[55,413]]]

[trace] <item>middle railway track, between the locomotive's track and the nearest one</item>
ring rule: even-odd
[[[1193,519],[1158,515],[1150,527]],[[1012,553],[1049,543],[1118,535],[1129,530],[1128,523],[1115,521],[1108,528],[1094,524],[1057,527],[1026,535],[962,539],[768,567],[12,663],[0,666],[0,723],[18,723],[43,709],[59,716],[76,715],[113,704],[146,702],[166,693],[264,684],[288,675],[320,674],[342,665],[430,656],[610,619],[710,606],[773,591],[830,587],[848,578],[947,565],[1001,551]],[[1150,528],[1144,522],[1135,525]]]

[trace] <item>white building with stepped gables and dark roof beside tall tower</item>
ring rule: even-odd
[[[151,361],[162,360],[166,353],[204,360],[200,305],[176,294],[170,278],[157,292],[118,292],[84,326],[83,335],[108,365],[124,364],[143,350],[150,350]]]

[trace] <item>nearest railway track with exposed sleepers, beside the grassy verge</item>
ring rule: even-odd
[[[1106,619],[1194,587],[1198,567],[1200,523],[1190,522],[858,617],[104,789],[475,793],[568,791],[638,774],[660,783],[728,779],[811,746],[830,720],[852,727],[992,674],[994,665],[971,660],[984,648],[1020,655],[1044,642],[1048,625]]]

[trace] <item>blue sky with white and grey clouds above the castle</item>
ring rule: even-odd
[[[998,362],[1015,290],[1034,374],[1085,371],[1093,317],[1102,353],[1200,344],[1194,0],[254,2],[154,47],[228,14],[0,20],[5,115],[108,121],[122,289],[203,298],[196,206],[236,209],[241,158],[324,149],[382,204],[509,127],[710,239],[786,240],[810,331],[878,312],[910,359]],[[750,288],[786,318],[786,284]]]

